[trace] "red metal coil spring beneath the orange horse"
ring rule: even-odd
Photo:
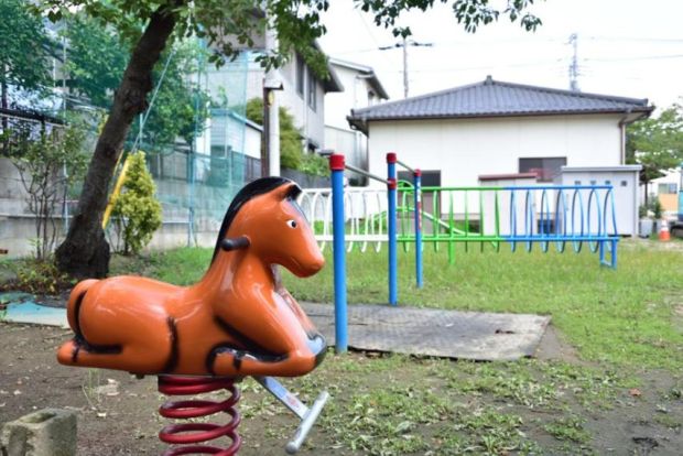
[[[240,436],[237,434],[237,426],[241,421],[241,416],[235,408],[235,404],[239,401],[240,393],[235,386],[235,380],[229,378],[159,377],[159,391],[167,395],[200,394],[221,389],[228,390],[231,393],[230,398],[221,402],[210,400],[169,401],[159,409],[159,413],[162,416],[170,419],[192,419],[218,412],[226,412],[232,416],[232,420],[226,425],[183,423],[165,426],[159,433],[159,438],[169,444],[184,446],[170,448],[163,456],[189,454],[232,456],[237,454],[242,444]],[[202,442],[213,441],[223,436],[232,441],[232,445],[228,448],[197,445]]]

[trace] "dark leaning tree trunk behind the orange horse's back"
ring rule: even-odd
[[[147,95],[153,86],[152,69],[175,26],[177,18],[172,8],[181,1],[170,3],[162,4],[152,14],[131,54],[109,117],[97,140],[76,215],[66,239],[56,250],[57,268],[76,278],[102,278],[109,272],[109,243],[101,228],[109,182],[130,124],[137,115],[147,109]]]

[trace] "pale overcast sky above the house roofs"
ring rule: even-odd
[[[378,50],[397,39],[354,9],[351,0],[330,3],[323,17],[323,50],[372,66],[391,98],[402,98],[402,50]],[[489,74],[498,80],[568,88],[572,33],[578,34],[582,91],[649,98],[658,107],[683,96],[683,0],[546,0],[532,11],[543,21],[535,33],[501,19],[469,34],[441,4],[406,14],[400,23],[411,28],[413,39],[433,43],[408,48],[410,96],[480,82]]]

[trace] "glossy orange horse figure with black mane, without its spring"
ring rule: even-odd
[[[282,177],[245,186],[226,213],[208,271],[192,286],[141,276],[78,283],[67,307],[75,337],[59,347],[58,361],[139,376],[313,370],[325,339],[277,271],[280,264],[305,278],[325,262],[295,202],[300,192]]]

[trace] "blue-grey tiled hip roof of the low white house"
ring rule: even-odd
[[[640,113],[654,109],[647,98],[624,98],[494,80],[354,109],[349,123],[368,132],[375,120],[454,119],[476,117],[553,116],[578,113]]]

